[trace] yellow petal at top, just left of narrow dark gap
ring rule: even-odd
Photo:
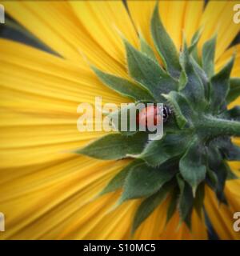
[[[90,36],[125,65],[125,49],[118,30],[134,46],[138,45],[138,37],[123,2],[71,1],[70,4]]]

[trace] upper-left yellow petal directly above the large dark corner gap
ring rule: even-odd
[[[82,54],[102,70],[124,75],[118,60],[90,37],[69,2],[8,1],[6,11],[51,49],[79,66],[86,66]]]

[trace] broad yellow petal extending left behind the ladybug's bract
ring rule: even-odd
[[[72,62],[5,39],[0,48],[2,168],[69,158],[102,134],[78,132],[78,104],[126,102]]]

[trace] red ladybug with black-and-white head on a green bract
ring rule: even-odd
[[[161,110],[162,115],[160,114]],[[148,120],[154,120],[154,126],[157,126],[159,122],[166,122],[171,114],[172,111],[168,106],[163,106],[163,108],[159,108],[158,106],[146,106],[146,108],[139,112],[137,123],[140,126],[147,126]]]

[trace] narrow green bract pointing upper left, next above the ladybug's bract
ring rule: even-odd
[[[92,66],[91,68],[106,86],[116,91],[118,94],[121,94],[122,96],[132,98],[135,101],[152,101],[154,99],[153,96],[151,96],[151,94],[145,88],[142,88],[141,86],[138,86],[137,84],[126,80],[125,78],[120,78],[113,74],[104,73],[94,66]]]

